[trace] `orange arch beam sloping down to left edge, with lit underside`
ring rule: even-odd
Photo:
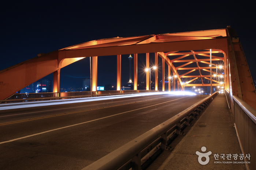
[[[4,100],[33,82],[84,58],[65,58],[63,54],[54,51],[1,70],[0,100]]]

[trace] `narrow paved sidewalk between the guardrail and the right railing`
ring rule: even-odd
[[[244,164],[235,163],[244,160],[239,158],[242,153],[232,120],[233,114],[229,113],[225,94],[218,94],[199,119],[192,121],[194,124],[192,128],[175,146],[158,170],[245,169]],[[203,146],[207,149],[204,152],[201,151]],[[209,163],[201,165],[196,151],[201,153],[211,151]],[[162,155],[164,154],[165,151]],[[219,158],[216,158],[219,160],[215,160],[214,154],[219,155]],[[225,154],[225,157],[220,157],[223,156],[221,154]],[[230,160],[227,159],[227,154],[231,154]],[[237,160],[234,159],[233,154],[238,154]],[[201,160],[206,159],[203,157]]]

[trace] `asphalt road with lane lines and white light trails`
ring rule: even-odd
[[[0,105],[0,169],[80,170],[205,97],[154,94]]]

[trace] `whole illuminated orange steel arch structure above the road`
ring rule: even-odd
[[[212,76],[212,86],[222,84],[223,88],[230,92],[230,99],[233,95],[238,96],[256,109],[256,93],[251,73],[239,37],[229,26],[218,30],[93,40],[48,54],[38,54],[38,57],[0,71],[0,100],[8,98],[18,90],[51,73],[53,73],[53,92],[59,92],[60,69],[85,57],[92,57],[92,90],[96,91],[98,56],[108,55],[117,55],[117,90],[120,90],[121,55],[133,54],[134,90],[137,90],[137,58],[141,53],[146,54],[146,68],[150,67],[149,53],[155,53],[155,66],[158,65],[158,57],[162,58],[163,86],[162,89],[158,89],[155,83],[155,90],[165,90],[164,82],[167,76],[169,91],[172,76],[177,77],[172,77],[174,80],[172,87],[175,87],[177,81],[178,90],[183,89],[183,86],[210,86],[204,82],[210,80]],[[168,65],[168,75],[164,72],[165,63]],[[222,66],[221,73],[217,74],[215,68],[220,69],[220,66]],[[155,82],[158,82],[158,71],[160,70],[156,68]],[[186,78],[187,80],[190,78],[189,81],[182,83]],[[148,72],[146,89],[149,89]],[[233,102],[231,102],[232,105]]]

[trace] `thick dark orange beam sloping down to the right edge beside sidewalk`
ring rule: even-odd
[[[256,93],[252,76],[246,61],[239,38],[232,28],[227,28],[229,32],[229,81],[230,98],[233,106],[233,95],[244,100],[251,107],[256,109]]]

